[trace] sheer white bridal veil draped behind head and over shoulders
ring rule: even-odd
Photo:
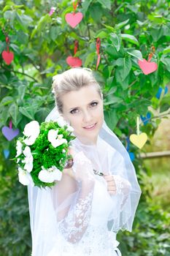
[[[55,106],[45,121],[53,120],[60,116],[58,108]],[[117,233],[118,230],[132,230],[134,215],[139,203],[141,189],[139,187],[134,165],[131,162],[128,151],[117,138],[114,132],[107,126],[104,121],[98,134],[97,146],[84,145],[76,138],[72,145],[77,151],[83,151],[87,157],[98,164],[101,160],[104,167],[108,168],[110,175],[125,178],[131,184],[131,190],[127,197],[121,193],[112,196],[112,212],[109,214],[108,230]],[[98,152],[106,154],[102,159]],[[107,162],[107,165],[106,165]],[[103,164],[103,163],[102,163]],[[56,214],[62,208],[74,204],[77,197],[77,191],[73,191],[69,197],[58,195],[56,187],[52,189],[39,189],[28,185],[28,204],[31,222],[32,236],[32,256],[47,256],[50,249],[53,248],[55,238],[58,233],[58,220]],[[62,200],[63,197],[63,200]],[[62,203],[58,203],[61,201]]]

